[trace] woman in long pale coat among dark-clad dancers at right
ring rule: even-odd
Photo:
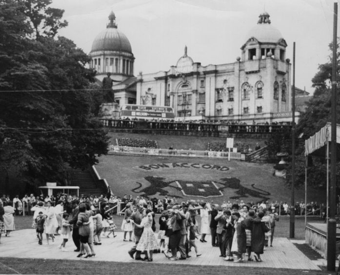
[[[235,255],[235,262],[242,262],[243,257],[242,254],[246,252],[246,233],[245,233],[245,228],[246,225],[244,221],[241,221],[240,219],[240,213],[239,212],[234,212],[232,214],[235,224],[235,232],[233,236],[233,243],[231,245],[231,253]]]

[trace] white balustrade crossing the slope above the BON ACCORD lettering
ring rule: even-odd
[[[197,150],[168,150],[154,148],[140,148],[127,146],[109,146],[111,154],[126,154],[126,155],[143,155],[143,156],[165,156],[165,157],[204,157],[204,158],[228,158],[228,152],[216,151],[197,151]],[[231,159],[242,159],[244,155],[241,153],[230,152]]]

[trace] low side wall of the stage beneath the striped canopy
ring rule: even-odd
[[[306,243],[317,250],[324,258],[327,257],[327,224],[307,223],[305,228]],[[337,228],[337,241],[340,241],[340,229]]]

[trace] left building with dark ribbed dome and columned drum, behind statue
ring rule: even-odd
[[[119,104],[136,103],[136,85],[133,85],[136,81],[135,57],[129,39],[118,29],[113,11],[106,29],[94,39],[89,56],[90,67],[97,71],[98,80],[102,81],[108,73],[111,74],[115,101]],[[115,112],[118,113],[117,110]]]

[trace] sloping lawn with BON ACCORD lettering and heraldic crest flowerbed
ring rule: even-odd
[[[291,190],[284,179],[273,176],[273,164],[194,157],[151,157],[107,155],[96,169],[115,195],[245,202],[290,202]],[[212,192],[212,184],[217,191]],[[206,188],[202,188],[202,186]],[[191,191],[188,189],[191,189]],[[183,191],[185,195],[183,194]],[[308,188],[307,201],[325,202],[325,192]],[[304,201],[304,189],[295,191]]]

